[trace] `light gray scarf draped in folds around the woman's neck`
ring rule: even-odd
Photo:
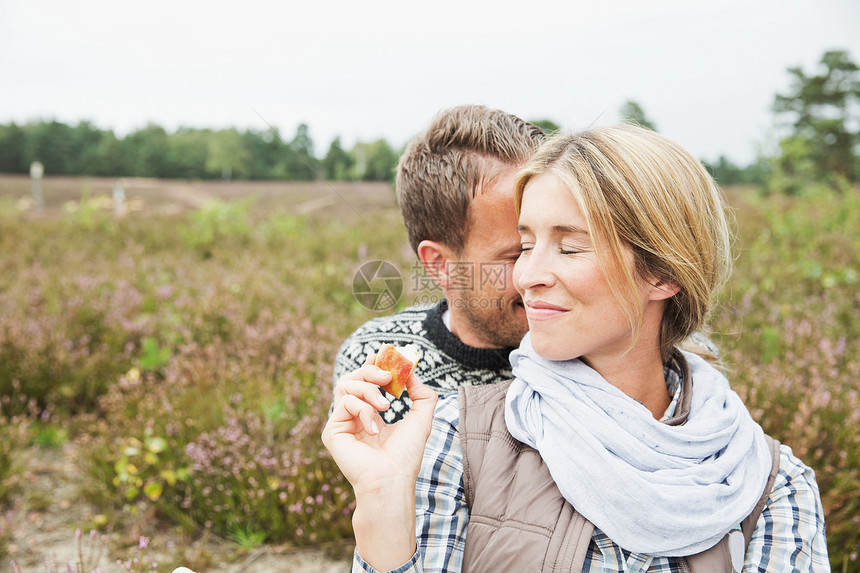
[[[726,378],[683,356],[690,412],[671,426],[582,361],[541,358],[528,335],[511,354],[508,431],[540,452],[579,513],[635,553],[713,546],[749,515],[770,471],[764,432]]]

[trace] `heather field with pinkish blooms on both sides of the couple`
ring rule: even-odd
[[[136,179],[117,215],[113,186],[47,178],[37,213],[28,179],[0,177],[0,570],[49,568],[51,519],[72,545],[107,534],[103,571],[348,557],[349,485],[319,432],[338,345],[378,314],[353,275],[387,260],[400,306],[426,295],[390,187]],[[727,194],[712,338],[815,468],[834,570],[860,571],[860,194]],[[74,502],[46,491],[52,465]]]

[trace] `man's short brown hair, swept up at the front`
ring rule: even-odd
[[[503,167],[524,163],[543,139],[538,127],[482,105],[437,114],[397,165],[397,200],[412,249],[430,240],[461,253],[470,199]]]

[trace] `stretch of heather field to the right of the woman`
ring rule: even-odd
[[[860,549],[860,196],[733,196],[737,267],[714,324],[732,385],[816,473],[834,570]]]

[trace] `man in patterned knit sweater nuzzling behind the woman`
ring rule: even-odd
[[[359,368],[383,342],[415,344],[415,373],[440,394],[511,378],[510,352],[528,330],[511,271],[520,252],[516,172],[543,141],[520,118],[479,105],[440,112],[397,167],[409,242],[445,298],[368,321],[344,342],[334,379]],[[407,395],[382,413],[403,417]]]

